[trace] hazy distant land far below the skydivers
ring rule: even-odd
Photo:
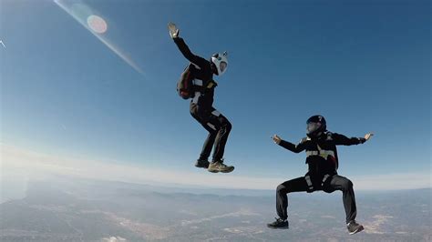
[[[0,205],[1,241],[431,241],[430,188],[356,194],[345,228],[342,194],[291,194],[289,230],[273,191],[155,187],[53,177],[29,181],[26,197]]]

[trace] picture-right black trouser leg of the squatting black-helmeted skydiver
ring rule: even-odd
[[[357,215],[357,208],[355,206],[355,194],[353,189],[353,182],[344,176],[335,175],[330,181],[330,187],[334,190],[342,191],[344,201],[346,223],[355,220]]]

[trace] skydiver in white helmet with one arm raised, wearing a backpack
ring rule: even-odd
[[[168,27],[170,36],[179,47],[181,54],[190,61],[190,65],[182,74],[182,78],[186,80],[185,83],[180,82],[181,87],[178,84],[179,94],[184,99],[191,98],[190,115],[209,132],[195,166],[207,168],[213,173],[229,173],[234,170],[234,166],[227,166],[223,163],[223,153],[230,135],[231,123],[212,106],[214,88],[218,86],[213,80],[213,74],[221,76],[225,73],[228,66],[227,53],[214,54],[210,60],[194,55],[179,36],[180,31],[176,25],[170,23]],[[212,162],[209,162],[208,158],[213,146]]]

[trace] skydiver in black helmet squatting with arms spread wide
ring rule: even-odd
[[[276,211],[279,217],[267,227],[288,228],[288,193],[304,191],[312,193],[318,190],[333,193],[335,190],[340,190],[343,193],[348,232],[355,234],[362,231],[364,227],[355,222],[357,211],[353,183],[348,178],[339,176],[336,172],[339,165],[336,146],[363,144],[373,134],[366,134],[365,137],[348,138],[331,133],[327,131],[324,116],[311,116],[306,124],[307,137],[303,138],[297,145],[284,141],[279,136],[273,136],[274,143],[294,153],[305,150],[306,164],[309,168],[305,176],[285,181],[276,188]]]

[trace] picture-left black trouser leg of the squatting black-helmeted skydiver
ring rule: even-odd
[[[288,217],[288,193],[304,192],[307,190],[307,183],[304,176],[285,181],[276,188],[276,211],[277,215],[285,220]]]

